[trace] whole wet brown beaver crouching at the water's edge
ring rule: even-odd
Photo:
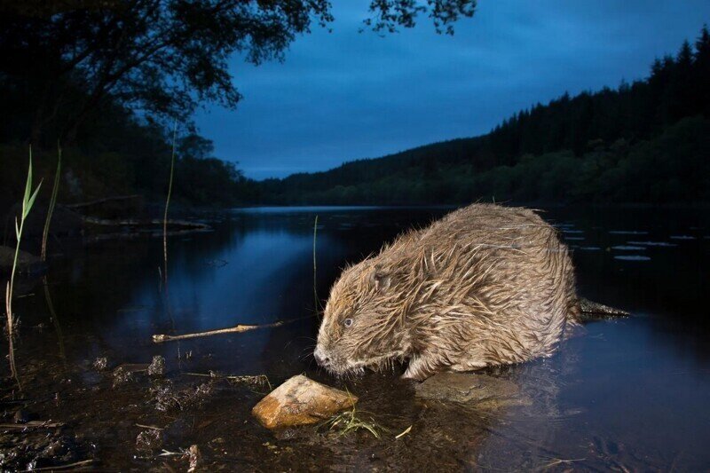
[[[344,269],[313,355],[335,375],[407,362],[403,377],[422,381],[548,357],[581,314],[556,229],[531,209],[477,203]]]

